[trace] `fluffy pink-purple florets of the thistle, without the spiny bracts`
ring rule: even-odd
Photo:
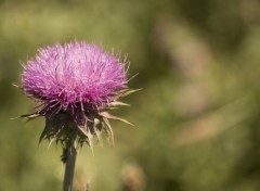
[[[95,44],[73,41],[39,49],[23,73],[23,90],[43,101],[41,114],[74,111],[79,103],[98,107],[126,88],[126,63]]]

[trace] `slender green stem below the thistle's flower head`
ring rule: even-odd
[[[63,191],[72,191],[73,190],[73,179],[74,179],[74,169],[77,157],[76,150],[76,140],[72,140],[67,145],[67,158],[65,165],[65,174],[64,174],[64,182],[63,182]]]

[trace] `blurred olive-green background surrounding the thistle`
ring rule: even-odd
[[[21,84],[37,49],[73,39],[129,54],[115,147],[79,151],[75,190],[260,190],[259,0],[0,0],[0,190],[62,189],[62,149]]]

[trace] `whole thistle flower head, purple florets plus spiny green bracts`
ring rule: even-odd
[[[79,142],[92,144],[92,137],[104,127],[113,132],[107,113],[117,100],[132,92],[127,89],[127,61],[105,52],[94,43],[72,41],[38,50],[22,74],[22,89],[35,99],[37,112],[23,117],[44,116],[41,139],[64,141],[72,132]],[[76,127],[76,128],[75,128]]]

